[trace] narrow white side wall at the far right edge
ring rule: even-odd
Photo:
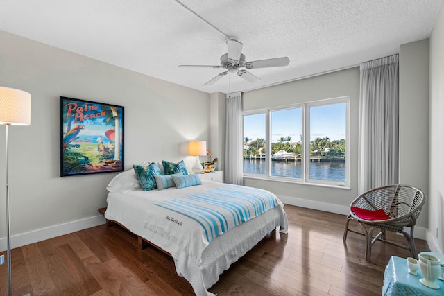
[[[427,243],[444,252],[444,9],[430,36],[429,108],[429,232]]]

